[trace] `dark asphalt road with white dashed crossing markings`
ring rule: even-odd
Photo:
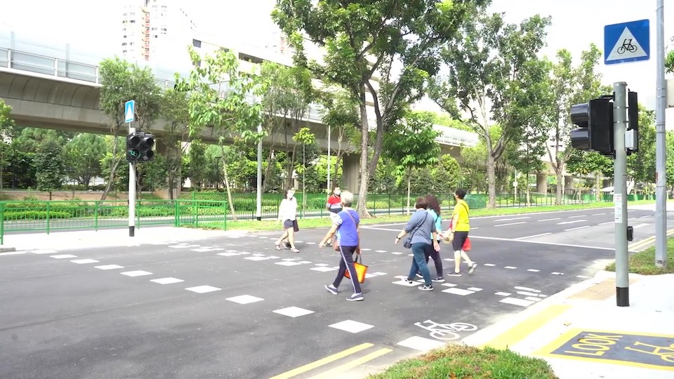
[[[630,217],[650,223],[652,213]],[[278,233],[267,232],[1,255],[0,378],[356,377],[458,342],[590,277],[593,262],[614,254],[612,217],[475,219],[470,256],[480,267],[427,292],[396,278],[411,262],[393,244],[400,226],[364,227],[364,302],[345,301],[346,280],[338,295],[324,290],[338,265],[334,251],[317,248],[325,230],[300,231],[297,254],[276,251]],[[447,246],[442,255],[449,272]],[[433,332],[426,320],[470,325]]]

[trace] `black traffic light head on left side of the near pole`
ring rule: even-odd
[[[613,155],[612,96],[603,96],[571,106],[571,122],[579,128],[571,131],[571,147]]]

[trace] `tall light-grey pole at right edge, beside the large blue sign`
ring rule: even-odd
[[[657,21],[657,99],[655,104],[655,265],[667,262],[667,147],[665,138],[665,32],[664,1],[658,0]]]

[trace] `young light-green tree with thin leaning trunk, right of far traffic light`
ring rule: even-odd
[[[239,71],[239,58],[232,51],[218,50],[204,57],[189,48],[192,72],[186,78],[176,74],[178,91],[189,92],[190,138],[204,128],[213,128],[222,151],[223,175],[232,219],[237,220],[227,176],[226,138],[237,133],[246,142],[259,142],[264,133],[255,129],[262,122],[261,106],[249,102],[250,95],[262,95],[264,86],[256,74]]]

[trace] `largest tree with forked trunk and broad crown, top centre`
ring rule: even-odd
[[[461,26],[487,2],[277,0],[272,18],[289,36],[296,65],[310,68],[319,79],[341,86],[357,100],[361,132],[357,211],[362,217],[369,217],[369,178],[379,162],[384,136],[404,117],[407,105],[423,97],[427,79],[440,68],[440,46],[455,39]],[[324,63],[308,62],[303,33],[324,48]],[[376,76],[381,76],[378,88]],[[374,104],[376,120],[373,143],[368,102]]]

